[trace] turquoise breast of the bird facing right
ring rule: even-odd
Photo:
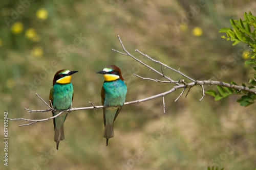
[[[58,110],[72,108],[72,84],[54,84],[53,88],[53,107]]]

